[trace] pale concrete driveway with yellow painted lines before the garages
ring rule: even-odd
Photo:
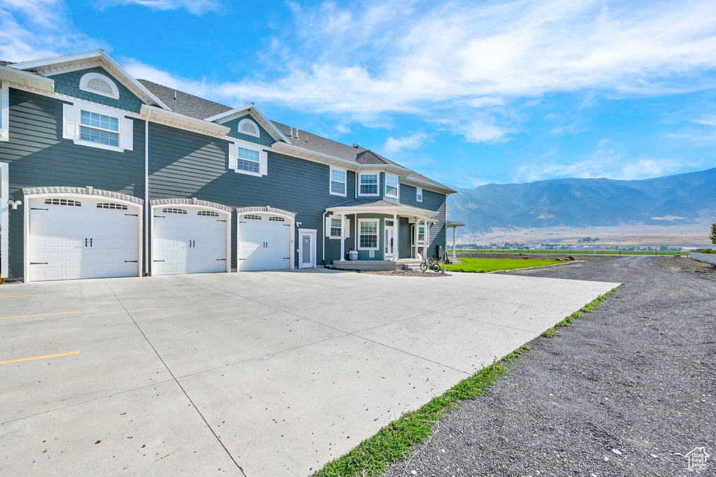
[[[614,286],[297,271],[0,286],[0,474],[306,476]]]

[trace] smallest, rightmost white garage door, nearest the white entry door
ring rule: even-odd
[[[291,223],[281,216],[238,218],[238,270],[291,268]]]

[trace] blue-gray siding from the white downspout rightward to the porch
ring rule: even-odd
[[[228,170],[225,140],[156,124],[150,124],[149,156],[150,199],[195,197],[233,208],[271,206],[294,212],[301,228],[318,232],[317,263],[324,259],[323,213],[326,207],[346,200],[329,194],[328,165],[269,152],[268,175],[240,174]],[[347,186],[348,197],[352,197],[352,172],[348,173]],[[236,268],[236,216],[232,228],[231,266]],[[334,260],[339,254],[339,241],[326,238],[326,256]],[[297,254],[295,262],[298,263]]]

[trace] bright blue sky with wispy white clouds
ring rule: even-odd
[[[0,59],[97,48],[461,187],[716,167],[714,1],[0,0]]]

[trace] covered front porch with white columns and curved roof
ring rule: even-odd
[[[435,211],[390,201],[354,200],[326,208],[326,264],[393,270],[430,249]]]

